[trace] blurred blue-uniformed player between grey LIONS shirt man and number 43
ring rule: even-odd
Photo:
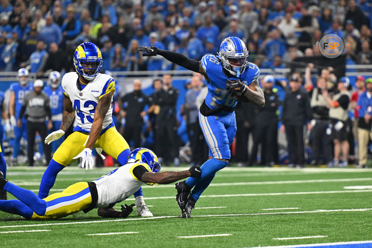
[[[51,132],[60,129],[62,124],[63,116],[63,91],[61,85],[61,74],[58,71],[52,71],[49,73],[48,86],[44,88],[45,94],[49,96],[51,112],[52,112],[52,123],[53,127]],[[62,144],[63,137],[52,143],[52,152],[54,153],[57,148]]]

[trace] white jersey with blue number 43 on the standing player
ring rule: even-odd
[[[94,120],[98,100],[102,96],[115,91],[115,80],[107,74],[98,74],[90,81],[84,89],[78,88],[78,75],[76,72],[69,72],[62,77],[63,94],[70,98],[75,109],[74,131],[90,132]],[[111,99],[112,101],[112,99]],[[113,123],[113,108],[107,111],[103,120],[102,130]]]

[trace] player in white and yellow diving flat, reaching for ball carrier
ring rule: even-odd
[[[68,138],[67,138],[68,139]],[[0,210],[18,214],[29,220],[56,219],[98,208],[98,215],[105,218],[125,218],[132,212],[134,204],[122,205],[122,211],[113,207],[144,183],[153,185],[170,184],[187,177],[200,177],[200,167],[192,166],[186,171],[160,171],[160,164],[154,152],[137,148],[128,157],[127,164],[107,176],[92,182],[73,184],[61,193],[40,199],[34,192],[16,186],[3,178],[0,172],[0,189],[14,195],[18,200],[0,200]]]

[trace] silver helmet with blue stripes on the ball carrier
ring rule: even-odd
[[[222,66],[233,76],[240,77],[246,70],[248,63],[248,50],[246,44],[238,37],[232,36],[224,39],[220,45]]]

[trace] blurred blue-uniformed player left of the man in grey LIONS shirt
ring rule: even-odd
[[[18,113],[22,108],[23,97],[33,91],[32,84],[29,84],[29,75],[26,68],[20,68],[17,74],[18,82],[10,85],[10,99],[9,99],[9,116],[10,124],[14,128],[14,144],[13,144],[13,159],[12,165],[16,164],[19,154],[20,141],[23,136],[27,140],[27,120],[22,118],[21,127],[17,126]]]

